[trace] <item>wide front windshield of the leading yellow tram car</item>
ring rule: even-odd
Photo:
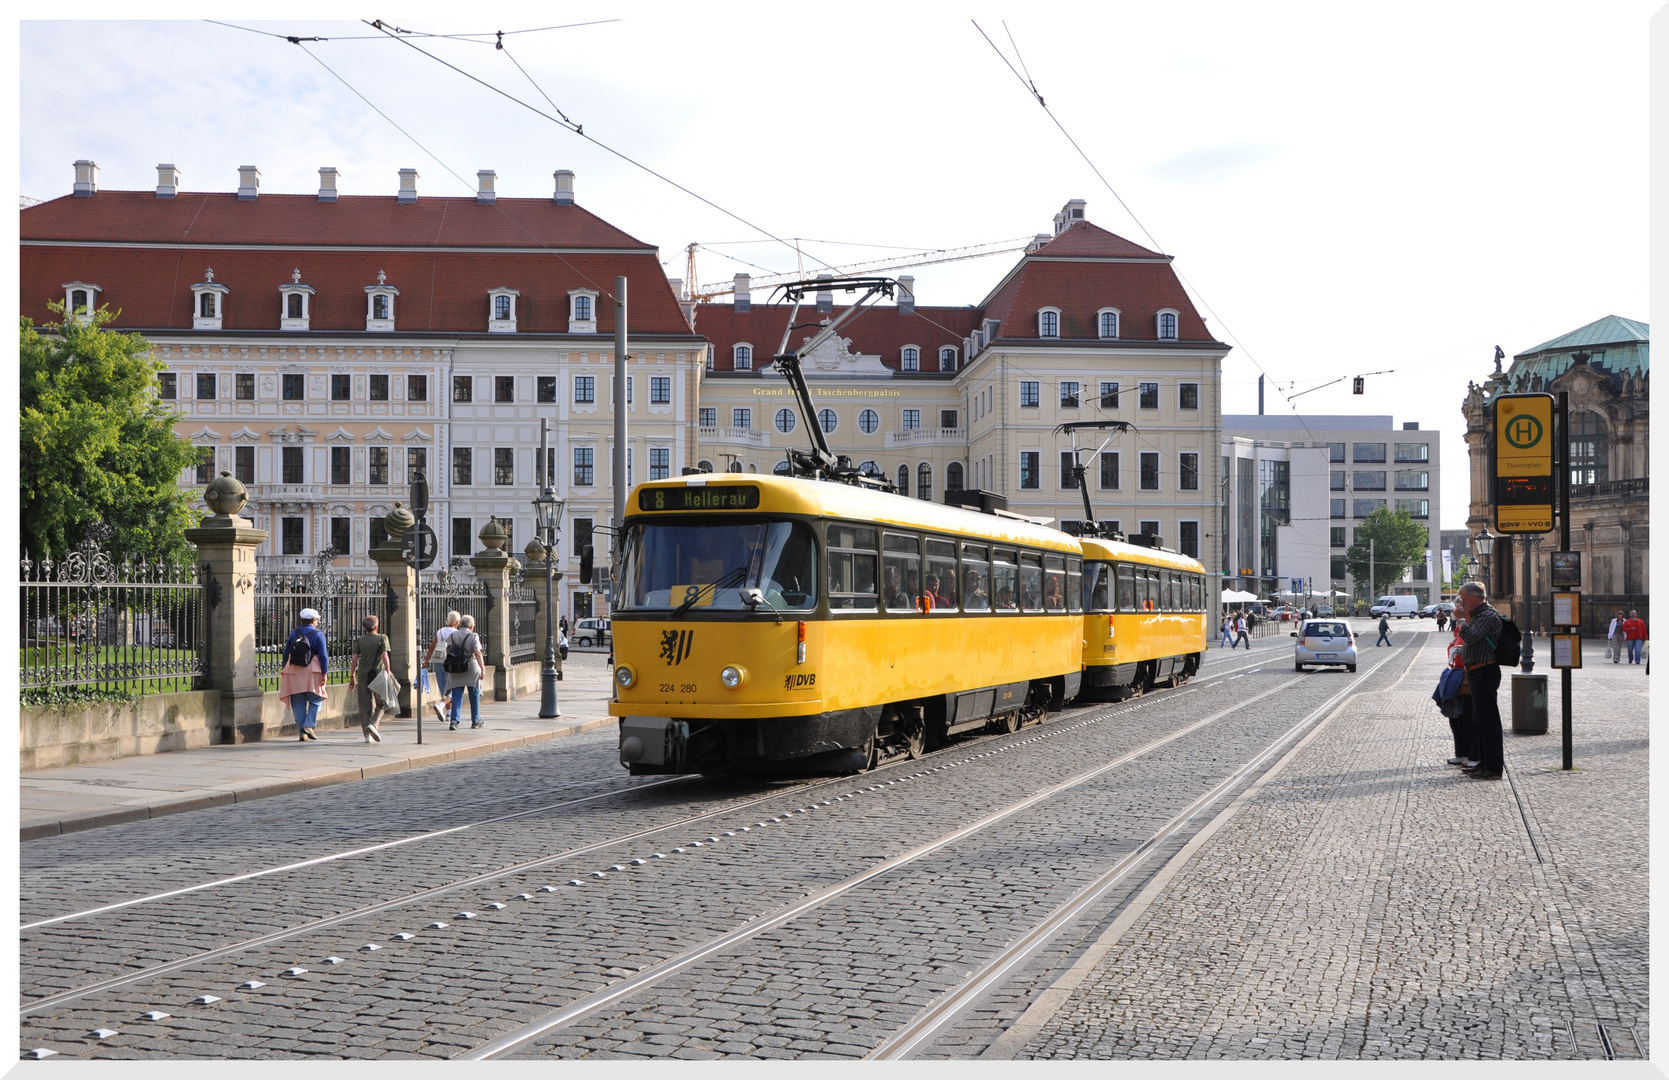
[[[818,603],[816,563],[811,529],[793,521],[639,522],[626,534],[618,608],[738,611],[741,589],[758,588],[771,608],[804,611]]]

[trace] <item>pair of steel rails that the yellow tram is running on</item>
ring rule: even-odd
[[[1180,693],[1188,693],[1188,691],[1198,688],[1200,684],[1205,684],[1205,683],[1210,683],[1210,681],[1233,679],[1233,678],[1240,678],[1243,674],[1255,673],[1263,664],[1267,664],[1267,658],[1265,659],[1258,659],[1258,661],[1248,661],[1245,664],[1238,664],[1235,668],[1230,668],[1230,669],[1225,669],[1225,671],[1220,671],[1220,673],[1213,673],[1210,676],[1198,676],[1197,679],[1193,679],[1192,683],[1185,684],[1183,688],[1177,688],[1177,689],[1168,691],[1168,693],[1165,689],[1160,689],[1160,691],[1150,691],[1148,694],[1143,694],[1140,698],[1128,699],[1128,701],[1123,701],[1123,703],[1097,703],[1097,704],[1090,704],[1090,706],[1082,706],[1082,708],[1071,709],[1068,713],[1056,714],[1055,719],[1051,719],[1050,723],[1046,723],[1046,724],[1041,726],[1043,728],[1043,734],[1046,734],[1050,738],[1068,734],[1068,733],[1071,733],[1071,731],[1075,731],[1078,728],[1083,728],[1083,726],[1098,724],[1098,723],[1103,723],[1103,721],[1108,721],[1108,719],[1115,719],[1117,716],[1127,714],[1127,713],[1130,713],[1133,709],[1140,709],[1140,708],[1148,708],[1148,706],[1153,706],[1153,704],[1160,704],[1165,699],[1175,699]],[[1298,679],[1288,679],[1278,689],[1283,689],[1285,686],[1288,686],[1288,684],[1292,684],[1295,681],[1298,681]],[[1275,693],[1275,691],[1267,691],[1265,694],[1258,694],[1258,696],[1250,698],[1247,701],[1237,703],[1232,709],[1227,709],[1223,714],[1227,714],[1230,711],[1235,711],[1238,708],[1243,708],[1247,704],[1252,704],[1253,701],[1258,701],[1263,696],[1268,696],[1268,693]],[[1061,723],[1061,721],[1066,721],[1066,723]],[[1165,739],[1162,739],[1162,743],[1163,741],[1170,741],[1173,738],[1180,738],[1187,731],[1192,731],[1192,729],[1195,729],[1198,726],[1202,726],[1202,724],[1197,721],[1195,724],[1190,724],[1190,726],[1187,726],[1183,729],[1178,729],[1177,733],[1172,733],[1170,736],[1167,736]],[[1028,743],[1028,741],[1031,741],[1031,739],[1035,739],[1038,736],[1040,736],[1040,726],[1033,724],[1033,726],[1028,726],[1028,728],[1021,728],[1018,733],[1000,734],[1000,736],[995,736],[991,739],[985,739],[985,738],[980,738],[980,739],[958,739],[958,741],[955,741],[955,743],[951,743],[951,744],[948,744],[948,746],[945,746],[941,749],[933,751],[931,754],[928,754],[928,758],[940,758],[940,756],[945,756],[945,754],[948,754],[948,756],[958,756],[955,753],[958,749],[960,751],[983,749],[985,753],[995,753],[990,748],[1005,746],[1005,744],[1006,746],[1020,746],[1020,744]],[[1162,743],[1155,743],[1153,746],[1158,746]],[[983,754],[981,753],[973,753],[973,754],[963,756],[961,760],[948,761],[948,763],[933,766],[930,771],[940,771],[940,770],[945,770],[945,768],[955,768],[955,766],[960,766],[960,765],[973,763],[980,756],[983,756]],[[1120,761],[1122,760],[1123,758],[1120,758]],[[240,951],[249,951],[249,950],[262,948],[265,945],[274,945],[274,943],[294,940],[294,938],[299,938],[299,936],[305,936],[305,935],[310,935],[310,933],[329,930],[332,926],[340,926],[340,925],[350,923],[354,920],[369,918],[369,916],[374,916],[374,915],[379,915],[379,913],[384,913],[384,911],[392,911],[392,910],[397,910],[397,908],[402,908],[402,906],[411,906],[411,905],[416,905],[416,903],[422,903],[426,900],[434,900],[434,898],[444,896],[444,895],[452,893],[452,891],[461,891],[461,890],[474,888],[474,886],[486,885],[486,883],[491,883],[494,880],[501,880],[501,878],[506,878],[506,876],[512,876],[512,875],[519,875],[519,873],[527,873],[527,871],[532,871],[532,870],[539,870],[539,868],[551,866],[551,865],[562,863],[562,861],[569,861],[569,860],[577,860],[577,858],[582,858],[586,855],[594,855],[594,853],[599,853],[599,851],[604,851],[604,850],[609,850],[609,848],[616,848],[616,846],[621,846],[621,845],[628,845],[628,843],[633,843],[633,841],[648,840],[648,838],[658,836],[661,833],[666,833],[666,831],[671,831],[671,830],[679,830],[679,828],[688,828],[691,825],[698,825],[701,821],[708,821],[708,820],[713,820],[713,818],[718,818],[718,816],[733,815],[733,813],[739,813],[739,811],[748,811],[748,810],[751,810],[754,806],[761,806],[761,805],[766,805],[766,803],[771,803],[771,801],[778,801],[778,800],[784,800],[784,798],[788,798],[788,800],[803,798],[806,793],[816,793],[816,791],[821,791],[823,788],[828,788],[828,786],[851,785],[855,780],[878,778],[878,780],[883,780],[883,783],[885,783],[883,773],[898,771],[898,770],[903,770],[903,768],[911,766],[911,765],[921,766],[921,765],[930,765],[930,763],[926,760],[911,761],[911,760],[895,758],[895,760],[890,760],[888,763],[885,763],[885,765],[881,765],[881,766],[878,766],[875,770],[870,770],[866,773],[860,773],[856,778],[855,776],[831,776],[831,778],[826,778],[826,780],[816,780],[816,781],[811,781],[811,783],[796,785],[793,788],[778,788],[778,790],[773,790],[769,793],[759,795],[756,798],[749,798],[749,800],[738,801],[738,803],[728,803],[724,806],[716,806],[713,810],[706,810],[706,811],[701,811],[698,815],[686,815],[686,816],[678,818],[674,821],[658,823],[658,825],[651,825],[651,826],[643,828],[643,830],[634,830],[631,833],[623,833],[623,835],[609,836],[609,838],[604,838],[604,840],[599,840],[599,841],[594,841],[594,843],[587,843],[587,845],[567,848],[567,850],[556,851],[556,853],[539,855],[539,856],[531,858],[531,860],[522,860],[522,861],[517,861],[517,863],[509,863],[509,865],[504,865],[504,866],[497,866],[497,868],[492,868],[492,870],[487,870],[487,871],[469,875],[469,876],[464,876],[464,878],[459,878],[459,880],[454,880],[454,881],[447,881],[447,883],[442,883],[442,885],[436,885],[436,886],[426,888],[426,890],[419,890],[419,891],[412,891],[412,893],[407,893],[407,895],[402,895],[402,896],[396,896],[396,898],[391,898],[391,900],[377,901],[374,905],[364,905],[364,906],[354,908],[350,911],[340,911],[340,913],[320,916],[320,918],[315,918],[315,920],[309,920],[305,923],[299,923],[295,926],[287,926],[287,928],[282,928],[282,930],[274,930],[274,931],[269,931],[269,933],[264,933],[264,935],[254,935],[250,938],[244,938],[244,940],[232,941],[232,943],[227,943],[227,945],[220,945],[220,946],[215,946],[215,948],[200,950],[200,951],[190,953],[187,956],[180,956],[177,960],[170,960],[170,961],[164,961],[164,963],[145,966],[142,970],[127,971],[127,973],[122,973],[122,975],[115,975],[115,977],[95,980],[95,982],[90,982],[90,983],[83,983],[83,985],[73,987],[70,990],[63,990],[63,992],[58,992],[58,993],[52,993],[52,995],[45,995],[45,997],[35,998],[35,1000],[25,1003],[25,1005],[22,1005],[20,1010],[18,1010],[18,1015],[20,1017],[40,1015],[40,1013],[50,1012],[50,1010],[53,1010],[57,1007],[62,1007],[62,1005],[67,1005],[67,1003],[72,1003],[72,1002],[77,1002],[77,1000],[82,1000],[82,998],[87,998],[87,997],[93,997],[93,995],[112,992],[112,990],[120,990],[124,987],[130,987],[130,985],[135,985],[135,983],[140,983],[140,982],[147,982],[147,980],[152,980],[152,978],[160,978],[160,977],[165,977],[165,975],[172,975],[175,971],[182,971],[182,970],[187,970],[187,968],[192,968],[192,966],[210,963],[214,960],[219,960],[219,958],[224,958],[224,956],[230,956],[230,955],[235,955],[235,953],[240,953]],[[918,771],[916,775],[926,775],[926,771]],[[481,825],[489,825],[489,823],[497,823],[497,821],[507,821],[507,820],[514,820],[514,818],[526,818],[526,816],[537,815],[537,813],[547,813],[547,811],[551,811],[554,808],[561,808],[561,806],[571,806],[571,805],[577,805],[577,803],[591,803],[591,801],[598,801],[598,800],[604,800],[604,798],[614,798],[614,796],[621,796],[621,795],[644,791],[644,790],[649,790],[649,788],[666,786],[666,785],[678,783],[678,781],[693,781],[693,780],[696,780],[696,778],[693,778],[693,776],[678,776],[678,778],[668,778],[668,780],[663,780],[663,781],[656,781],[654,785],[639,785],[639,786],[634,786],[634,788],[629,788],[629,790],[623,790],[623,791],[599,793],[599,795],[592,795],[592,796],[584,796],[581,800],[566,800],[562,803],[552,803],[552,805],[547,805],[547,806],[539,806],[539,808],[531,808],[531,810],[524,810],[524,811],[516,811],[516,813],[511,813],[511,815],[499,815],[499,816],[487,818],[487,820],[482,820],[482,821],[476,821],[476,823],[469,823],[469,825],[462,825],[462,826],[454,826],[451,830],[427,831],[427,833],[416,835],[412,838],[402,838],[402,840],[397,840],[397,841],[386,841],[386,843],[381,843],[381,845],[369,845],[369,846],[355,848],[355,850],[350,850],[350,851],[340,851],[340,853],[332,853],[332,855],[325,855],[325,856],[317,856],[317,858],[312,858],[312,860],[300,860],[300,861],[295,861],[295,863],[285,863],[282,866],[272,866],[272,868],[265,868],[265,870],[260,870],[260,871],[250,871],[250,873],[245,873],[245,875],[235,875],[232,878],[222,878],[222,880],[217,880],[217,881],[207,881],[207,883],[200,883],[197,886],[185,886],[185,888],[180,888],[180,890],[169,890],[165,893],[155,893],[155,895],[145,896],[145,898],[135,898],[135,900],[122,901],[122,903],[117,903],[117,905],[105,905],[102,908],[92,908],[88,911],[75,913],[72,916],[57,916],[57,918],[52,918],[52,920],[40,920],[38,923],[23,926],[23,930],[28,930],[32,926],[45,926],[45,925],[63,923],[68,918],[75,918],[75,916],[87,916],[87,915],[95,915],[95,913],[103,913],[103,911],[113,911],[113,910],[130,908],[130,906],[135,906],[135,905],[145,903],[145,901],[160,901],[160,900],[174,898],[174,896],[185,895],[185,893],[202,891],[205,888],[212,888],[212,886],[217,886],[217,885],[232,885],[232,883],[245,881],[245,880],[252,880],[252,878],[272,876],[272,875],[285,871],[285,870],[304,870],[307,866],[315,866],[315,865],[322,865],[322,863],[327,863],[327,861],[334,861],[334,860],[340,860],[340,858],[347,858],[347,856],[354,856],[354,855],[384,851],[384,850],[396,848],[396,846],[399,846],[402,843],[411,843],[412,840],[424,840],[424,838],[441,836],[441,835],[447,835],[447,833],[457,833],[457,831],[462,831],[462,830],[467,830],[467,828],[476,828],[476,826],[481,826]],[[846,798],[846,796],[841,796],[841,798]],[[838,803],[840,803],[840,800],[831,800],[831,801],[828,801],[824,805],[838,805]]]

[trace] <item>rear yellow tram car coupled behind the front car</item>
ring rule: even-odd
[[[1178,686],[1205,656],[1205,568],[1175,551],[1083,537],[1083,694]]]

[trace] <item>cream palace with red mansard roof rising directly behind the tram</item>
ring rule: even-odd
[[[1077,522],[1078,447],[1097,519],[1157,532],[1215,578],[1228,346],[1205,329],[1170,260],[1090,224],[1075,199],[976,305],[916,304],[901,277],[895,305],[858,315],[803,364],[829,449],[918,499],[980,487],[1011,512]],[[819,294],[788,347],[841,310]],[[713,346],[701,466],[786,471],[788,447],[808,444],[771,367],[789,312],[753,304],[746,275],[734,304],[696,307],[696,332]],[[1102,419],[1135,431],[1055,431]]]

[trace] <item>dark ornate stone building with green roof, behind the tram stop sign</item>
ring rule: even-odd
[[[1606,634],[1612,613],[1649,616],[1651,327],[1606,315],[1512,357],[1482,384],[1469,384],[1460,406],[1472,466],[1467,531],[1494,529],[1490,514],[1492,402],[1499,394],[1571,396],[1571,548],[1582,553],[1584,633]],[[1510,606],[1524,629],[1547,629],[1551,554],[1559,532],[1495,541],[1487,573],[1490,596]],[[1530,554],[1529,579],[1524,554]]]

